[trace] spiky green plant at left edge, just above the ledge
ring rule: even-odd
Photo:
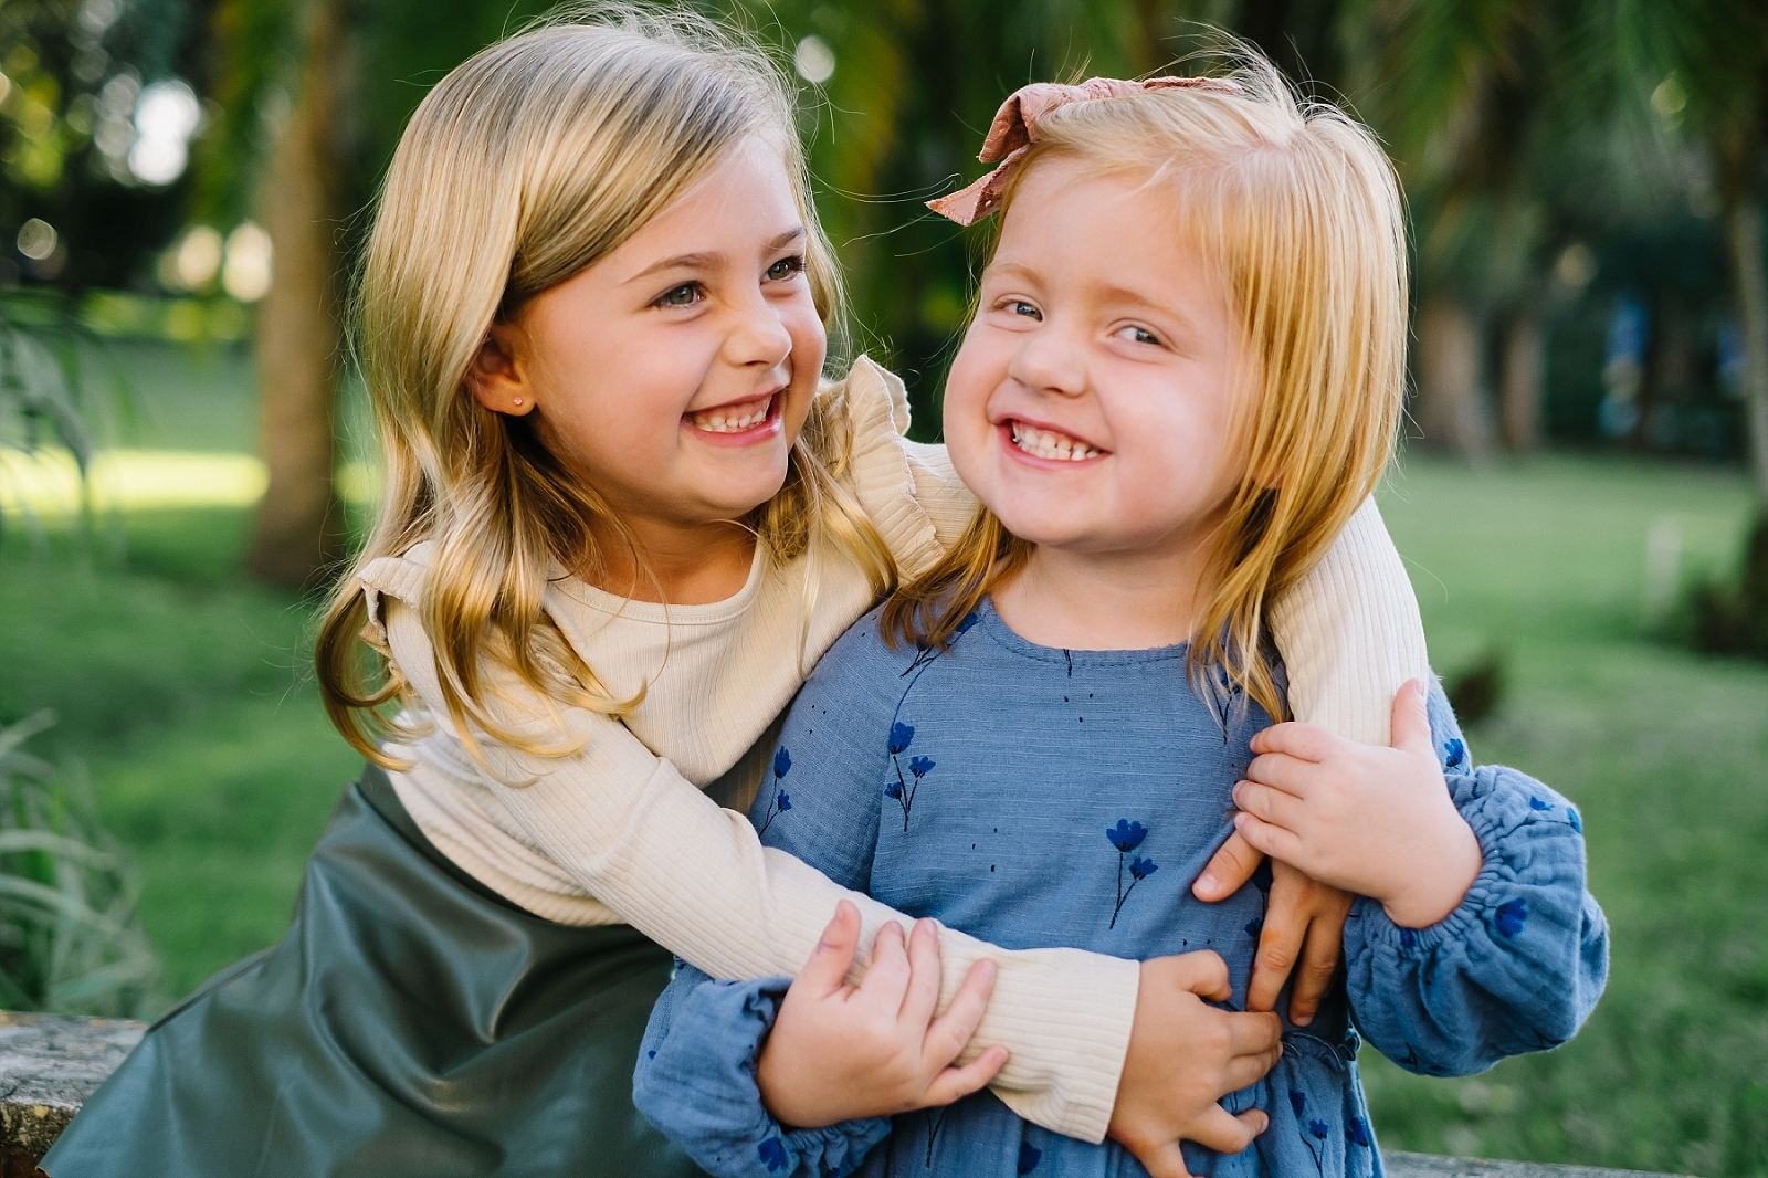
[[[0,729],[0,1006],[133,1015],[157,973],[140,884],[83,771],[25,750],[51,723],[39,711]]]

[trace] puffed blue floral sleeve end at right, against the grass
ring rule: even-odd
[[[1345,925],[1358,1026],[1383,1054],[1432,1075],[1558,1047],[1607,982],[1607,923],[1584,890],[1577,808],[1503,766],[1452,766],[1444,784],[1485,854],[1460,906],[1402,929],[1360,899]]]

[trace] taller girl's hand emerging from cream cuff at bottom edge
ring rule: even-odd
[[[1284,1054],[1276,1015],[1204,1005],[1232,994],[1227,964],[1209,950],[1142,962],[1110,1136],[1153,1178],[1188,1178],[1179,1141],[1239,1153],[1269,1125],[1257,1109],[1232,1116],[1216,1104]]]

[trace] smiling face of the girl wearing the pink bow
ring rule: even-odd
[[[946,382],[946,447],[1015,536],[1075,554],[1195,554],[1245,470],[1227,453],[1241,327],[1142,175],[1040,161]]]

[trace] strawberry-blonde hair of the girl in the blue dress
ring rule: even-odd
[[[1248,462],[1209,554],[1188,665],[1195,681],[1220,669],[1282,718],[1266,610],[1326,554],[1393,451],[1406,228],[1393,166],[1368,129],[1299,101],[1254,53],[1232,80],[1238,92],[1151,90],[1045,113],[1001,216],[1040,161],[1080,157],[1169,186],[1183,232],[1220,267],[1254,359],[1234,423]],[[944,646],[1029,554],[979,508],[944,561],[891,598],[886,633]]]

